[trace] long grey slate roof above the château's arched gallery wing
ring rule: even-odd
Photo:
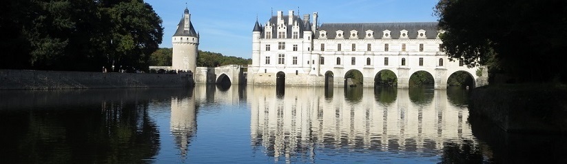
[[[407,30],[409,39],[417,39],[417,31],[425,30],[426,39],[437,37],[437,22],[408,22],[408,23],[323,23],[316,32],[316,37],[320,36],[320,31],[327,32],[327,39],[335,39],[336,31],[342,30],[344,39],[349,39],[351,30],[358,31],[358,39],[366,37],[366,31],[374,32],[374,39],[382,39],[384,30],[390,30],[391,39],[399,39],[400,31]]]

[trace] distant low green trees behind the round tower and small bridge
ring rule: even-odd
[[[152,66],[171,66],[172,55],[172,48],[159,48],[151,55],[149,63]],[[249,65],[251,63],[251,59],[227,57],[216,52],[198,50],[197,54],[197,67],[218,67],[230,64]]]

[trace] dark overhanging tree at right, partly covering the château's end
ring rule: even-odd
[[[440,0],[434,12],[449,57],[523,82],[566,81],[567,1]]]

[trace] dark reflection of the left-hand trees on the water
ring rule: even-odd
[[[99,105],[59,106],[12,114],[3,111],[1,125],[11,131],[10,135],[2,135],[0,141],[2,147],[10,150],[1,152],[6,155],[3,161],[143,163],[157,154],[160,145],[147,105],[147,101],[103,101]]]

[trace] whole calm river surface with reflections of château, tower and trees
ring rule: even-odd
[[[566,163],[562,136],[506,134],[462,88],[0,91],[6,163]]]

